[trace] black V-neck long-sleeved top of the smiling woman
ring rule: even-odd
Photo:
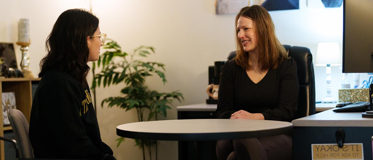
[[[291,121],[297,110],[299,84],[297,66],[286,59],[255,84],[235,59],[225,63],[220,75],[217,118],[236,111],[261,113],[265,120]]]

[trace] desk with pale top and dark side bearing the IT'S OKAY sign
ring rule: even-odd
[[[364,159],[372,159],[373,118],[361,112],[327,110],[292,121],[293,159],[311,159],[311,144],[336,144],[335,132],[345,131],[344,143],[363,143]]]

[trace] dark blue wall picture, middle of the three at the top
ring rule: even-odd
[[[266,0],[261,6],[268,11],[299,9],[299,0]]]

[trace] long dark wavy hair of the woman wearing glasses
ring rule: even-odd
[[[85,86],[90,70],[87,37],[92,36],[97,27],[98,18],[85,9],[63,12],[47,37],[47,55],[40,61],[39,78],[53,67],[67,72]]]

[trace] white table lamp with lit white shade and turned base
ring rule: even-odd
[[[335,103],[335,98],[330,94],[332,92],[332,68],[330,66],[341,65],[341,53],[339,52],[339,43],[323,42],[317,45],[316,66],[326,66],[326,97],[322,103]]]

